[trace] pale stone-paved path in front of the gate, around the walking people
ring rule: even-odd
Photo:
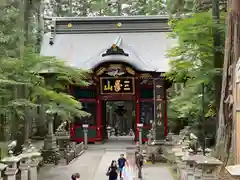
[[[90,145],[87,152],[83,153],[69,165],[43,167],[39,173],[39,180],[67,180],[75,172],[80,173],[81,180],[107,180],[107,168],[112,160],[119,158],[120,154],[126,154],[128,160],[133,162],[134,153],[132,147],[132,143],[126,143],[125,141],[109,141],[104,145]],[[132,174],[136,175],[137,172],[134,163],[130,164],[132,164]],[[143,179],[173,180],[168,167],[163,165],[145,165]]]

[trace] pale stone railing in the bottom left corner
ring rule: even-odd
[[[37,167],[41,160],[41,153],[32,146],[18,156],[5,157],[0,163],[0,180],[37,180]]]

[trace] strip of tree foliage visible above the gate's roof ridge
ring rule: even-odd
[[[47,14],[61,17],[166,14],[164,0],[53,0],[45,2],[45,7]]]

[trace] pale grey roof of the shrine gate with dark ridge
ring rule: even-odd
[[[173,45],[173,41],[167,39],[167,28],[160,28],[166,27],[166,20],[158,16],[153,16],[152,19],[147,16],[145,19],[60,18],[56,20],[52,33],[44,35],[41,55],[55,56],[65,60],[69,65],[86,70],[104,62],[117,61],[128,63],[140,71],[166,72],[169,69],[168,59],[165,57],[166,50]],[[117,22],[121,23],[122,27],[116,28]],[[161,24],[163,22],[164,26]],[[125,28],[124,23],[127,24]],[[128,56],[119,54],[102,56],[113,44]]]

